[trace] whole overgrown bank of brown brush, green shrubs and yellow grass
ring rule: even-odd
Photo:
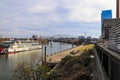
[[[20,78],[28,80],[95,80],[95,58],[92,54],[94,45],[82,45],[82,47],[78,46],[73,49],[76,48],[83,53],[77,55],[79,52],[76,52],[66,55],[56,66],[51,63],[43,65],[23,63],[19,65],[14,80]]]

